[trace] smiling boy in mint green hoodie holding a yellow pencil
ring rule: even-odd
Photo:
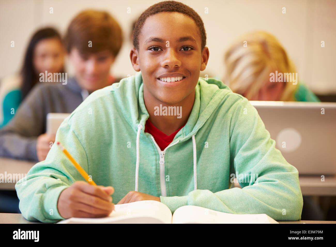
[[[221,81],[199,78],[209,58],[200,16],[179,2],[157,3],[138,18],[133,45],[136,75],[92,93],[56,135],[100,187],[54,145],[16,184],[23,216],[101,217],[113,202],[157,200],[172,212],[196,205],[299,220],[298,171],[256,109]],[[233,175],[242,189],[230,189]]]

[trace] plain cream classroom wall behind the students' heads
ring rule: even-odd
[[[31,35],[40,27],[54,26],[62,34],[75,14],[86,8],[109,11],[120,23],[125,43],[111,72],[133,75],[129,51],[132,22],[152,0],[0,0],[0,78],[15,73],[22,65]],[[223,54],[241,34],[261,29],[274,34],[296,64],[299,80],[316,93],[336,92],[335,0],[181,0],[203,19],[210,50],[203,74],[222,78]],[[49,8],[53,7],[53,13]],[[127,14],[127,7],[131,13]],[[209,13],[204,13],[207,7]],[[286,14],[282,8],[286,7]],[[11,41],[15,47],[10,47]],[[325,47],[321,47],[321,41]],[[72,68],[68,69],[71,73]],[[201,73],[202,74],[202,73]]]

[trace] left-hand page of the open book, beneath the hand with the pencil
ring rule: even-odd
[[[57,223],[171,223],[170,209],[163,203],[152,200],[114,205],[115,211],[104,218],[72,217]]]

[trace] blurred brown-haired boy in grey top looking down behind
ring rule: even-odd
[[[46,115],[49,112],[71,113],[93,91],[119,82],[121,78],[114,78],[109,71],[122,40],[122,30],[108,12],[86,10],[79,13],[65,36],[75,77],[66,82],[40,83],[34,87],[12,121],[0,130],[0,156],[44,160],[50,143],[55,142],[55,136],[46,133]]]

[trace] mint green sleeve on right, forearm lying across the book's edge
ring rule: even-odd
[[[303,199],[297,169],[276,149],[275,140],[250,102],[240,98],[235,105],[230,123],[230,166],[242,188],[160,196],[161,202],[172,212],[184,205],[195,205],[225,213],[265,213],[275,220],[300,220]],[[247,174],[249,182],[244,183],[239,174]],[[252,179],[253,175],[257,179]]]

